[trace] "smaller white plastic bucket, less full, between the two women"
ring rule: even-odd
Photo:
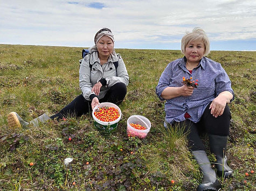
[[[144,130],[136,129],[136,128],[130,126],[130,123],[140,124],[141,126],[144,126],[147,129],[144,129]],[[132,115],[127,120],[127,135],[128,136],[139,137],[139,138],[143,139],[148,135],[150,128],[151,128],[150,121],[148,120],[147,117],[144,117],[142,115]]]

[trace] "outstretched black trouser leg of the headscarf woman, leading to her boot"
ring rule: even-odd
[[[89,109],[91,109],[91,101],[87,101],[81,94],[71,101],[70,104],[61,109],[59,113],[50,116],[50,118],[60,120],[66,116],[81,116],[88,113]]]

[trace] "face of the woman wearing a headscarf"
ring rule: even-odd
[[[99,52],[99,58],[108,58],[114,50],[114,43],[108,36],[102,36],[96,46]]]

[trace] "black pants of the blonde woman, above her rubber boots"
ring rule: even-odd
[[[206,107],[203,116],[198,123],[189,119],[182,122],[174,122],[172,126],[183,127],[184,133],[188,133],[189,148],[192,151],[205,150],[203,141],[199,135],[207,133],[210,135],[229,136],[231,113],[229,106],[226,105],[222,115],[214,117],[209,109],[211,103]]]

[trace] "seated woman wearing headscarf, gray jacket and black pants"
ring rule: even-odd
[[[89,48],[80,64],[79,86],[82,94],[55,115],[43,114],[30,122],[24,121],[16,112],[8,115],[9,127],[38,126],[49,119],[63,119],[67,116],[81,116],[91,111],[100,102],[120,105],[127,93],[129,76],[126,66],[114,50],[114,35],[108,28],[102,28],[94,36],[95,45]]]

